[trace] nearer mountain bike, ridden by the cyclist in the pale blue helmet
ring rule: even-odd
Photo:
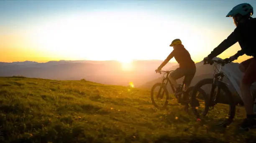
[[[215,120],[220,122],[218,125],[223,127],[226,127],[230,123],[232,123],[236,113],[236,103],[233,100],[234,96],[232,96],[230,89],[228,89],[228,86],[227,86],[228,84],[223,81],[224,77],[228,78],[228,80],[231,82],[231,84],[236,89],[238,94],[241,96],[239,85],[235,80],[236,77],[233,76],[236,74],[234,74],[233,71],[228,69],[227,67],[224,67],[225,64],[228,64],[228,63],[229,63],[229,59],[224,59],[224,60],[212,59],[210,61],[204,61],[204,64],[210,64],[210,65],[214,64],[214,74],[213,74],[214,76],[213,78],[202,79],[201,81],[199,81],[194,86],[194,90],[191,96],[191,102],[192,102],[191,108],[196,118],[199,118],[199,119],[201,119],[202,117],[204,118],[207,115],[208,111],[214,111],[215,109],[220,108],[221,110],[217,112],[218,114],[214,113],[214,115],[210,119],[212,119],[212,122]],[[220,66],[219,69],[217,67],[218,65]],[[203,109],[202,114],[199,114],[196,93],[197,93],[197,90],[204,89],[202,88],[202,86],[205,86],[206,84],[210,84],[210,88],[209,88],[210,95],[204,97],[205,108]]]

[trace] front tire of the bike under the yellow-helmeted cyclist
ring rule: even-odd
[[[166,94],[166,99],[165,99],[165,102],[164,102],[164,106],[160,107],[158,106],[156,103],[155,103],[155,100],[154,100],[154,89],[157,87],[157,86],[160,86],[160,88],[163,88],[164,89],[164,92]],[[165,85],[162,85],[162,83],[156,83],[152,86],[151,88],[151,101],[152,101],[152,104],[160,109],[160,110],[163,110],[167,107],[168,105],[168,100],[169,100],[169,93],[168,93],[168,90],[166,89],[166,86]]]

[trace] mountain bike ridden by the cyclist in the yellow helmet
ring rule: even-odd
[[[167,84],[169,83],[171,88],[172,88],[172,91],[174,93],[176,93],[177,89],[174,88],[174,85],[172,84],[172,82],[170,81],[169,79],[169,74],[172,71],[158,71],[156,73],[162,73],[164,72],[164,75],[162,77],[162,81],[159,82],[159,83],[156,83],[152,86],[151,88],[151,101],[152,101],[152,104],[160,109],[160,110],[163,110],[163,109],[166,109],[167,105],[168,105],[168,101],[169,101],[169,92],[167,90]],[[174,96],[176,97],[176,99],[179,101],[182,101],[182,105],[185,106],[185,110],[188,111],[188,108],[189,108],[189,104],[190,104],[190,94],[192,94],[192,91],[193,91],[193,86],[189,87],[186,91],[183,90],[183,87],[184,87],[184,81],[182,82],[182,84],[178,84],[179,85],[179,89],[182,89],[182,91],[180,93],[176,93],[174,94]],[[202,89],[198,89],[197,90],[198,94],[206,94],[204,90]],[[154,94],[156,93],[156,98],[154,98]],[[164,95],[166,95],[166,97],[164,98]],[[183,95],[183,96],[182,96]],[[205,95],[203,95],[205,96]],[[160,101],[160,104],[156,104],[156,100]]]

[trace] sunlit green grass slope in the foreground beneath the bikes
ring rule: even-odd
[[[238,131],[237,107],[228,128],[195,121],[176,101],[159,111],[150,91],[94,82],[0,77],[1,143],[249,142],[256,131]]]

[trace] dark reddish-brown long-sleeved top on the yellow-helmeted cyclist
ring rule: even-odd
[[[169,54],[169,56],[164,60],[159,68],[161,69],[164,67],[173,57],[178,62],[180,68],[195,68],[195,62],[191,59],[189,52],[184,48],[182,44],[180,47],[174,49],[171,54]]]

